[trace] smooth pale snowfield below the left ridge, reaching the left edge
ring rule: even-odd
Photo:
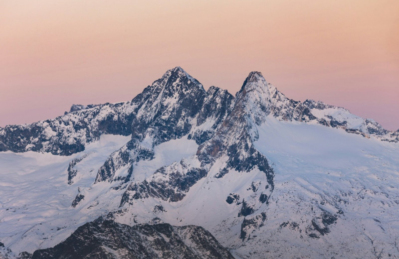
[[[37,247],[53,245],[68,237],[76,225],[94,220],[109,210],[109,204],[96,206],[95,211],[71,210],[71,202],[78,192],[91,188],[108,155],[129,141],[129,136],[102,135],[89,144],[85,151],[72,156],[28,151],[24,153],[0,152],[0,239],[11,250],[32,252]],[[75,157],[89,154],[79,164],[80,179],[67,184],[67,168]],[[104,190],[93,186],[90,200],[96,200]],[[114,206],[114,207],[117,207]],[[51,236],[57,238],[52,239]]]

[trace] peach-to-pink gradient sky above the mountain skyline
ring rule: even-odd
[[[2,127],[131,100],[175,66],[232,94],[261,71],[397,130],[399,1],[0,0]]]

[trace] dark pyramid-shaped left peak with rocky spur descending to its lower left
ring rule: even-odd
[[[140,94],[141,102],[132,121],[132,140],[109,157],[99,169],[96,182],[127,180],[113,179],[115,171],[140,160],[153,159],[153,150],[141,146],[146,136],[151,137],[154,147],[188,135],[193,127],[210,119],[210,128],[200,127],[189,135],[189,139],[202,143],[211,138],[226,116],[232,100],[227,91],[212,89],[205,92],[202,85],[180,67],[167,71],[161,79],[147,87]],[[215,103],[216,100],[221,103]],[[193,125],[195,117],[199,119]]]

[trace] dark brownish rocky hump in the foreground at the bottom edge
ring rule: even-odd
[[[37,250],[28,258],[233,259],[202,227],[166,223],[130,227],[102,217],[79,227],[55,247]]]

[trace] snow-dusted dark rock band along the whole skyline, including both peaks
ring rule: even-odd
[[[265,92],[265,89],[260,89],[262,87],[270,87],[268,96],[260,96],[266,100],[258,100],[250,104],[249,101],[253,102],[254,100],[248,99],[247,94],[256,91]],[[256,111],[247,111],[248,105],[256,107]],[[212,122],[210,127],[199,128],[190,134],[191,139],[202,144],[210,140],[219,128],[229,128],[233,124],[231,121],[239,119],[239,122],[242,123],[250,115],[252,122],[260,125],[265,116],[269,114],[279,120],[315,121],[328,127],[340,127],[347,132],[363,136],[373,134],[385,141],[399,141],[398,131],[383,129],[380,124],[372,120],[363,119],[360,129],[352,129],[348,128],[347,121],[341,121],[339,118],[316,117],[312,114],[312,109],[338,108],[313,100],[298,102],[288,99],[265,82],[259,72],[251,72],[248,75],[235,97],[217,87],[210,87],[205,92],[196,79],[188,75],[182,68],[176,67],[168,70],[162,78],[145,88],[130,102],[72,105],[69,113],[53,120],[29,125],[8,125],[0,128],[0,151],[32,150],[71,155],[83,151],[88,143],[98,140],[99,136],[104,133],[132,134],[132,139],[136,138],[138,141],[142,141],[148,133],[151,133],[154,137],[153,144],[157,145],[182,137],[190,133],[193,127],[201,126],[209,120]],[[339,109],[349,113],[343,108]],[[197,119],[194,124],[193,118]],[[241,130],[251,130],[251,127],[244,123],[241,125]],[[239,133],[239,130],[236,133]],[[245,139],[246,137],[242,135],[237,143],[244,145],[244,149],[251,148],[248,142],[243,141]],[[216,142],[215,139],[213,144]],[[226,146],[224,147],[226,148]],[[222,148],[223,151],[225,148]],[[240,150],[241,148],[239,144],[232,145],[229,152],[231,154],[234,149]],[[251,150],[248,157],[253,154],[254,151]],[[234,158],[231,157],[231,160]],[[229,166],[236,168],[238,164],[231,160]],[[243,162],[245,163],[241,168],[250,170],[256,161],[243,159]]]

